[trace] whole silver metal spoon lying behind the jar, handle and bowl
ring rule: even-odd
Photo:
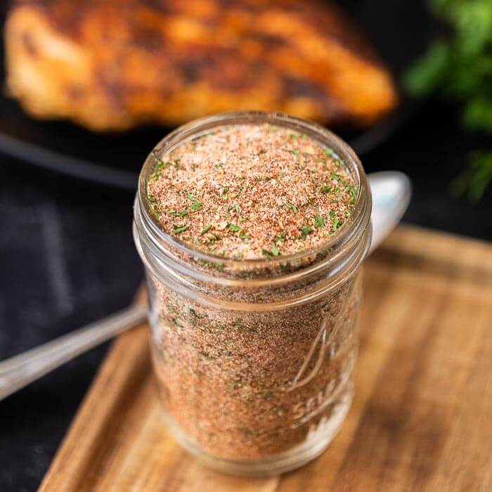
[[[399,223],[411,196],[408,177],[397,171],[369,175],[373,193],[373,240],[370,251]],[[147,306],[135,304],[103,320],[0,362],[0,400],[50,373],[53,369],[133,328],[147,318]]]

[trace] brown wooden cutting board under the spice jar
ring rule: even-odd
[[[492,246],[400,227],[368,259],[356,397],[320,458],[206,470],[167,432],[146,327],[112,346],[42,491],[491,491]]]

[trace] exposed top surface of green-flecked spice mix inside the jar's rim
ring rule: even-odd
[[[148,196],[167,233],[253,259],[325,241],[349,216],[356,188],[334,150],[263,124],[223,127],[164,155]]]

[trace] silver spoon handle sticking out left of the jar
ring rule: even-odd
[[[146,318],[147,306],[134,304],[96,323],[0,362],[0,400],[79,354],[143,323]]]

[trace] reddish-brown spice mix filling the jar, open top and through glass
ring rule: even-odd
[[[340,157],[270,124],[218,127],[162,156],[148,198],[162,230],[224,259],[278,260],[343,228],[357,190]],[[310,282],[319,281],[321,278]],[[215,299],[258,292],[194,283]],[[299,280],[261,293],[298,296]],[[153,358],[171,422],[193,446],[255,460],[333,432],[351,401],[360,281],[285,309],[235,311],[192,300],[149,275]]]

